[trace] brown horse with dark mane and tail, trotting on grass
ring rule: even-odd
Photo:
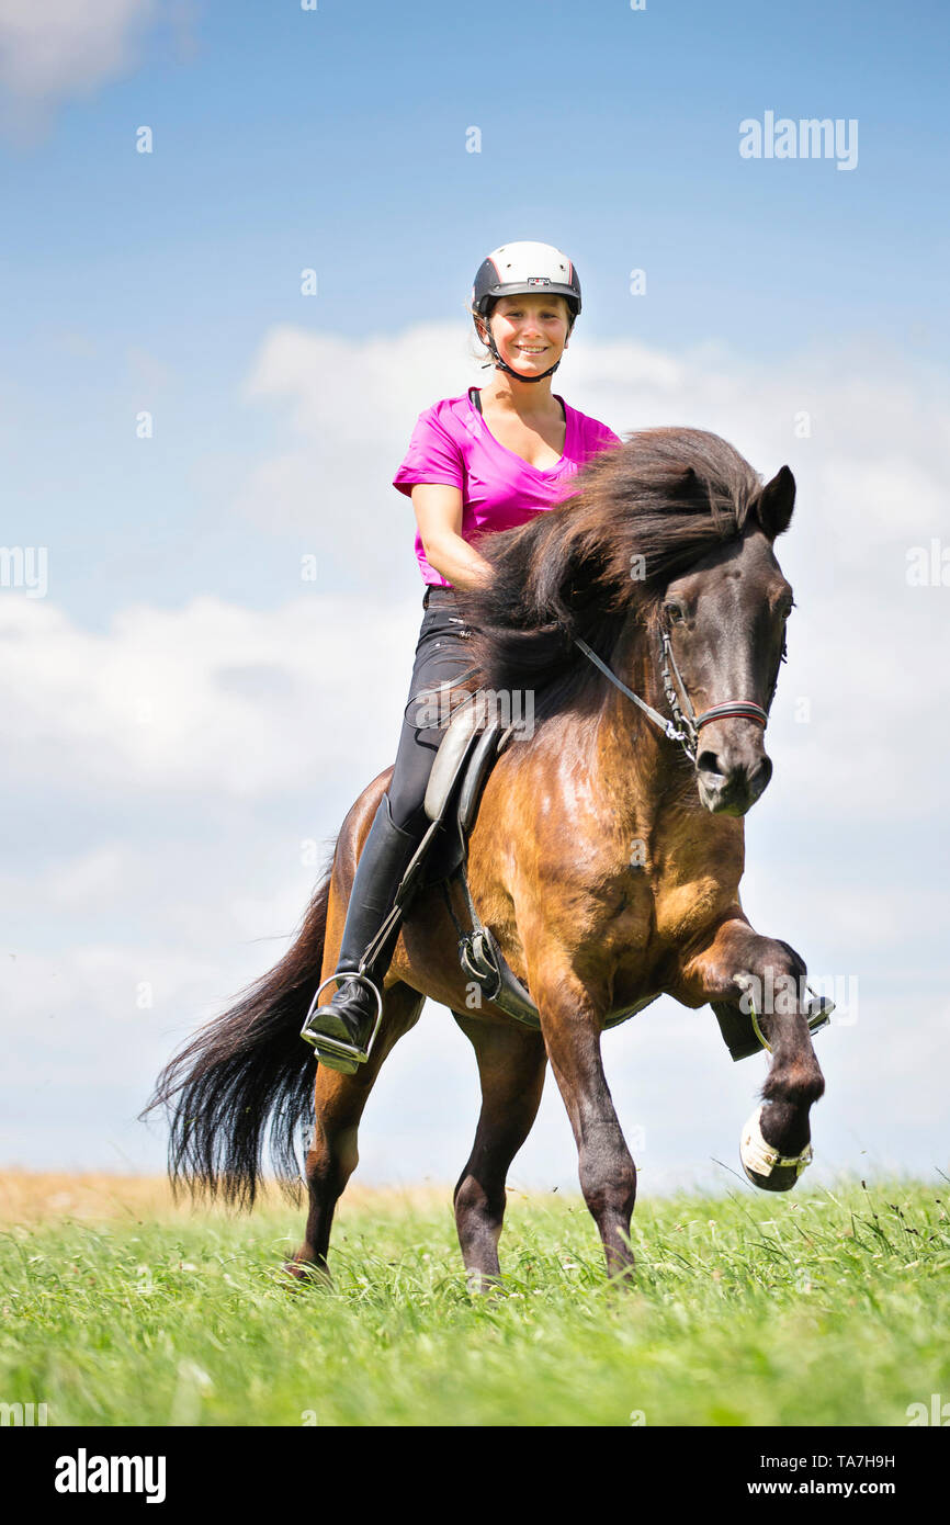
[[[425,997],[448,1006],[479,1069],[480,1115],[454,1188],[474,1289],[500,1278],[506,1176],[547,1064],[607,1275],[633,1272],[637,1174],[601,1035],[659,994],[692,1010],[711,1003],[724,1037],[729,1023],[752,1020],[772,1063],[743,1132],[743,1165],[762,1190],[794,1186],[811,1157],[810,1109],[825,1089],[805,964],[785,941],[755,932],[740,901],[743,817],[772,776],[764,729],[793,605],[775,541],[793,508],[788,467],[762,483],[717,435],[651,429],[590,461],[552,509],[480,540],[493,580],[457,590],[474,682],[531,692],[534,724],[483,785],[468,886],[537,1005],[540,1031],[488,999],[473,1006],[453,881],[450,894],[428,886],[412,903],[357,1074],[317,1066],[300,1042],[313,990],[335,968],[387,769],[349,810],[293,946],[169,1061],[145,1109],[171,1115],[172,1182],[241,1206],[255,1200],[267,1148],[278,1177],[299,1185],[297,1136],[313,1121],[293,1276],[329,1275],[363,1109]],[[762,999],[762,990],[781,996]]]

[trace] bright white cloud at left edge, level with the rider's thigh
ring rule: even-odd
[[[69,778],[242,798],[303,779],[316,790],[360,762],[378,772],[418,619],[416,601],[314,592],[274,612],[137,605],[96,634],[50,602],[0,599],[0,702],[15,715],[0,767],[56,788]]]

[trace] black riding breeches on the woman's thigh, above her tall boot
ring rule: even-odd
[[[457,613],[454,589],[430,587],[424,607],[396,766],[387,790],[393,824],[419,839],[428,825],[422,801],[432,764],[461,702],[461,691],[453,694],[451,688],[473,671],[468,633]]]

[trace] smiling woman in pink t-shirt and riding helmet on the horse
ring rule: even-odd
[[[310,1011],[302,1032],[322,1064],[346,1074],[367,1058],[395,936],[361,974],[360,962],[427,827],[422,801],[444,732],[415,721],[433,691],[470,673],[454,589],[491,575],[476,549],[482,534],[512,529],[552,508],[590,456],[621,442],[550,390],[581,311],[576,271],[560,250],[532,242],[496,249],[479,267],[470,311],[496,374],[489,387],[470,387],[419,415],[393,479],[412,496],[416,514],[425,613],[393,776],[352,884],[340,984],[331,1002]],[[424,718],[430,717],[432,708]]]

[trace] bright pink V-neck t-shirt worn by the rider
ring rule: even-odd
[[[468,392],[433,403],[419,413],[393,486],[407,497],[422,482],[457,486],[462,493],[462,540],[471,543],[479,535],[528,523],[567,496],[572,477],[592,456],[621,444],[605,424],[578,413],[563,398],[558,401],[564,406],[567,422],[564,454],[544,471],[522,461],[494,438]],[[416,561],[424,583],[451,587],[425,560],[418,531]]]

